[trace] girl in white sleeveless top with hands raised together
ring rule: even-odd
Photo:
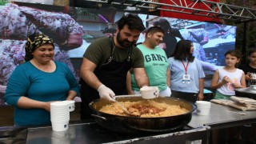
[[[217,89],[215,99],[230,99],[235,88],[246,87],[246,77],[242,70],[237,68],[241,53],[238,50],[229,50],[225,54],[226,66],[215,71],[211,88]]]

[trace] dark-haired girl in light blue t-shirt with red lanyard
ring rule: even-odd
[[[191,41],[181,40],[168,58],[171,97],[182,98],[189,102],[203,99],[205,77],[201,62],[193,57],[193,51],[194,46]]]

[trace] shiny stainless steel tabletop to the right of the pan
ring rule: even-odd
[[[246,115],[234,114],[228,111],[245,113]],[[242,111],[230,106],[223,106],[211,102],[210,114],[206,116],[193,113],[189,123],[191,127],[210,126],[211,130],[222,129],[232,126],[243,126],[256,123],[256,111]]]

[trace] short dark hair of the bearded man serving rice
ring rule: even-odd
[[[122,30],[123,26],[128,26],[130,30],[145,30],[145,26],[143,25],[142,19],[138,17],[138,15],[134,14],[126,14],[122,16],[121,19],[118,20],[118,29]]]

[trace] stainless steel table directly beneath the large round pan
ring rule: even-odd
[[[26,144],[96,144],[96,143],[208,143],[209,126],[165,134],[118,134],[98,124],[72,124],[69,130],[56,132],[49,127],[29,128]]]

